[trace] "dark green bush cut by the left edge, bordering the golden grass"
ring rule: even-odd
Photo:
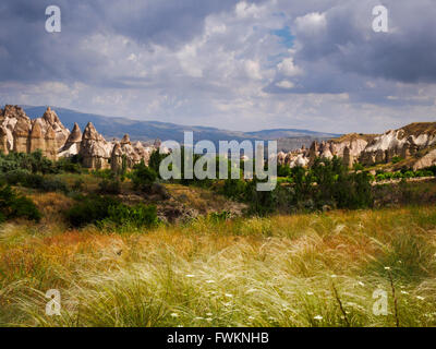
[[[41,215],[32,200],[20,195],[9,185],[0,188],[0,221],[13,218],[39,221]]]

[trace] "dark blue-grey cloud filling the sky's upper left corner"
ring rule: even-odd
[[[1,2],[1,81],[108,83],[108,74],[101,68],[111,58],[84,47],[87,37],[122,35],[140,45],[177,49],[203,32],[207,15],[230,11],[235,3],[233,0],[58,0],[62,33],[50,35],[45,31],[45,10],[51,4],[51,0]]]

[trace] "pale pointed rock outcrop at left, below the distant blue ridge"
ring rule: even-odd
[[[141,142],[132,145],[129,135],[118,142],[107,142],[88,123],[82,134],[77,123],[70,131],[62,124],[50,107],[41,118],[31,120],[17,106],[0,109],[0,152],[32,153],[37,149],[49,159],[81,155],[83,166],[90,169],[120,170],[125,161],[132,168],[142,160],[148,165],[153,151],[160,147],[160,140],[154,146],[144,146]]]

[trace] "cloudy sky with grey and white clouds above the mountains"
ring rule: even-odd
[[[373,31],[373,8],[388,32]],[[46,8],[61,32],[46,31]],[[1,0],[0,105],[227,130],[436,121],[434,0]]]

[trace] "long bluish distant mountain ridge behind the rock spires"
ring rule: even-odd
[[[33,107],[22,106],[31,118],[41,117],[47,109],[46,106]],[[71,109],[52,107],[62,123],[70,130],[74,122],[77,122],[83,130],[90,121],[99,133],[108,141],[111,139],[122,139],[128,133],[133,141],[149,142],[156,139],[162,141],[173,140],[183,142],[183,132],[194,132],[194,141],[209,140],[215,144],[218,141],[267,141],[279,140],[279,151],[291,151],[304,145],[310,145],[314,140],[327,140],[339,136],[334,133],[323,133],[308,130],[295,129],[275,129],[262,130],[256,132],[239,132],[220,130],[207,127],[189,127],[159,121],[140,121],[126,118],[105,117],[94,113],[85,113]]]

